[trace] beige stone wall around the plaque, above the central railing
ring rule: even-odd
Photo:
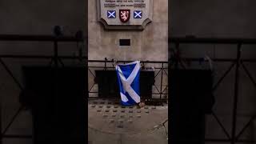
[[[143,31],[108,31],[97,20],[95,0],[88,1],[89,59],[167,61],[168,1],[154,0],[153,22]],[[129,38],[131,46],[120,47],[119,39]]]

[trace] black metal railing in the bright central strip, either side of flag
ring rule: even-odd
[[[125,64],[127,62],[131,61],[118,61],[117,63]],[[154,95],[154,100],[162,100],[166,101],[168,99],[168,62],[162,62],[162,61],[141,61],[141,70],[150,70],[154,71],[154,85],[152,87]],[[114,60],[108,61],[102,61],[102,60],[88,60],[88,74],[89,74],[89,81],[90,78],[96,78],[95,70],[115,70],[115,62]],[[99,91],[96,89],[94,90],[94,87],[96,85],[96,82],[94,81],[92,84],[89,84],[88,90],[89,90],[89,98],[100,98],[97,96],[90,96],[90,94],[98,94]],[[105,98],[113,98],[111,96],[106,96]]]

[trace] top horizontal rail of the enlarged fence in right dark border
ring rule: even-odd
[[[203,43],[203,44],[256,44],[256,38],[194,38],[170,37],[170,43]]]

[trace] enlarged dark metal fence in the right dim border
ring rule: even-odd
[[[212,91],[217,90],[218,86],[223,82],[230,71],[235,69],[235,76],[234,76],[234,102],[233,102],[233,111],[232,111],[232,126],[231,126],[231,134],[226,129],[226,126],[220,121],[217,114],[212,111],[212,115],[218,122],[218,125],[221,126],[222,131],[224,132],[226,138],[206,138],[206,142],[230,142],[230,144],[235,144],[238,142],[248,142],[248,143],[255,143],[255,140],[249,139],[241,139],[242,134],[246,131],[246,129],[251,126],[256,118],[256,114],[254,114],[250,120],[244,125],[242,130],[238,132],[237,125],[238,125],[238,93],[239,93],[239,78],[240,78],[240,68],[246,72],[248,78],[256,88],[256,81],[248,70],[247,66],[245,65],[250,63],[256,63],[255,58],[242,58],[242,50],[246,50],[242,46],[245,45],[256,45],[255,38],[170,38],[169,39],[169,54],[172,53],[171,46],[174,46],[174,50],[176,50],[174,56],[169,57],[169,67],[174,66],[174,68],[181,68],[186,69],[186,62],[200,62],[202,58],[181,58],[179,51],[182,44],[201,44],[201,45],[232,45],[234,49],[236,49],[236,58],[212,58],[213,62],[231,62],[230,66],[226,69],[225,73],[222,74],[222,77],[219,78],[213,88]],[[171,99],[171,96],[170,96]],[[217,103],[218,104],[218,103]]]

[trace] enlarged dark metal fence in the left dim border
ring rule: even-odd
[[[24,90],[22,83],[18,81],[18,78],[15,77],[13,70],[10,69],[10,66],[6,65],[4,61],[5,58],[14,58],[14,59],[46,59],[50,61],[50,66],[54,64],[54,66],[64,66],[62,59],[87,59],[85,56],[81,57],[72,57],[72,56],[59,56],[58,54],[58,43],[59,42],[84,42],[83,38],[74,37],[74,36],[63,36],[56,37],[52,35],[11,35],[11,34],[0,34],[0,41],[10,41],[10,42],[53,42],[54,54],[53,55],[13,55],[13,54],[0,54],[0,64],[3,66],[4,70],[10,75],[12,80],[15,82],[16,86],[20,90]],[[48,64],[48,63],[47,63]],[[87,63],[84,63],[84,66]],[[6,126],[2,127],[2,105],[0,103],[0,144],[3,143],[3,138],[28,138],[31,139],[31,134],[6,134],[7,130],[10,129],[10,126],[13,125],[15,119],[18,117],[24,110],[24,106],[19,106],[18,110],[15,111],[14,115],[10,118],[10,122],[7,123]]]

